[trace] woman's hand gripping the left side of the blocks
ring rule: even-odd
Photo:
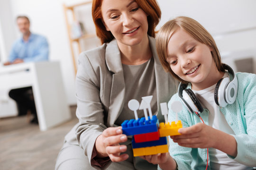
[[[122,134],[122,127],[108,127],[98,136],[95,143],[97,157],[109,156],[113,162],[125,161],[128,154],[120,154],[127,150],[126,145],[119,143],[126,142],[127,136]]]

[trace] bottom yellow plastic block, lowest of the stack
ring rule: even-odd
[[[133,149],[133,156],[144,156],[144,155],[153,155],[157,153],[167,153],[168,145],[158,145],[151,147],[135,148]]]

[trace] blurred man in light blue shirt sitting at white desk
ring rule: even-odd
[[[22,33],[22,37],[14,42],[9,55],[9,61],[4,63],[4,65],[48,60],[48,42],[44,36],[30,32],[28,17],[18,16],[17,25]],[[17,102],[18,115],[25,115],[28,111],[31,111],[32,115],[34,115],[31,122],[38,123],[32,87],[13,89],[9,92],[9,96]]]

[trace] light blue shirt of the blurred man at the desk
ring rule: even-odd
[[[27,42],[22,37],[14,42],[9,61],[13,62],[15,59],[23,59],[24,62],[45,61],[48,60],[48,55],[49,45],[46,38],[31,33]]]

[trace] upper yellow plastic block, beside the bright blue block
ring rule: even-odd
[[[175,124],[175,121],[173,121],[170,125],[170,123],[160,123],[159,125],[159,135],[160,137],[163,136],[175,136],[175,135],[181,135],[178,132],[178,129],[182,128],[182,122],[179,120],[177,124]]]

